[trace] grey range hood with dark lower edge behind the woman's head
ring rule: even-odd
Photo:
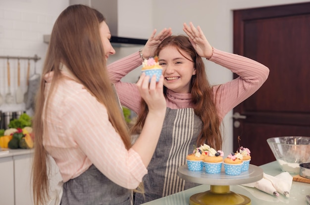
[[[111,32],[111,44],[113,47],[133,47],[145,45],[147,39],[133,38],[130,35],[119,35],[118,0],[69,0],[69,4],[84,4],[103,13]],[[124,3],[124,1],[122,2]],[[130,15],[130,13],[128,14]],[[131,34],[133,35],[133,34]],[[44,42],[49,43],[51,35],[43,36]]]

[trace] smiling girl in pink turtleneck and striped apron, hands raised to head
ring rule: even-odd
[[[163,67],[167,110],[149,172],[143,179],[145,196],[137,193],[135,205],[197,186],[179,178],[178,167],[186,164],[186,155],[193,152],[194,146],[206,143],[216,150],[221,149],[220,129],[224,116],[254,94],[269,74],[269,69],[255,60],[213,48],[199,26],[184,24],[183,30],[187,36],[170,36],[154,47],[153,53],[142,50],[143,56],[145,53],[146,56],[157,55]],[[133,84],[120,81],[135,67],[114,67],[132,61],[136,55],[113,63],[108,72],[121,104],[138,114],[132,132],[140,133],[150,107],[139,97]],[[210,85],[203,57],[240,77],[221,85]]]

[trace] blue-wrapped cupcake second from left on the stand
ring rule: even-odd
[[[221,173],[223,156],[224,153],[220,150],[216,151],[213,148],[210,148],[207,151],[207,156],[204,158],[203,163],[208,174]]]

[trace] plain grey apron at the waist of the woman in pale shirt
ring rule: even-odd
[[[91,165],[80,176],[63,184],[60,205],[131,205],[132,191],[104,176]]]

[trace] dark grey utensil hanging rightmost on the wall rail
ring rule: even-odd
[[[40,85],[40,74],[37,73],[35,62],[35,73],[29,77],[29,86],[27,89],[27,100],[26,100],[26,109],[32,108],[35,110],[35,97]]]

